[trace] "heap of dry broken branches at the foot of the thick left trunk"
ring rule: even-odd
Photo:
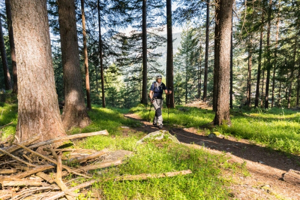
[[[121,156],[114,156],[114,159],[105,159],[113,153],[107,149],[95,151],[91,149],[79,148],[47,148],[39,153],[34,149],[47,146],[54,142],[61,142],[75,138],[104,134],[106,130],[80,133],[75,135],[63,136],[51,140],[34,143],[39,136],[33,136],[25,141],[0,148],[0,199],[57,199],[65,196],[67,199],[75,199],[82,195],[75,193],[75,190],[87,187],[95,182],[108,180],[137,180],[147,178],[158,178],[174,176],[178,174],[191,173],[190,170],[167,172],[161,174],[139,174],[122,175],[106,179],[91,179],[92,174],[89,170],[103,168],[122,163],[124,156],[130,153],[123,153]],[[109,154],[110,153],[110,154]],[[45,155],[46,154],[46,155]],[[122,153],[120,153],[122,154]],[[73,179],[63,182],[63,177],[68,176]],[[78,178],[86,178],[87,181],[78,183],[76,186],[69,187],[69,182]]]

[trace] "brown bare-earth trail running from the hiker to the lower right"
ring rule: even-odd
[[[125,117],[139,120],[142,127],[130,128],[131,131],[153,132],[157,128],[138,115],[128,113]],[[283,180],[289,170],[300,171],[300,156],[282,153],[251,143],[246,139],[208,138],[197,128],[164,126],[185,145],[202,148],[211,153],[226,153],[228,162],[245,163],[249,175],[224,170],[223,176],[230,180],[231,194],[237,199],[300,199],[300,182],[290,183]],[[128,130],[124,130],[128,131]]]

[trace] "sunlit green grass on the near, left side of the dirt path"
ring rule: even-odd
[[[3,110],[0,125],[10,121],[14,122],[3,128],[5,134],[14,134],[17,105],[3,103],[0,109]],[[192,173],[147,180],[111,180],[94,184],[92,187],[99,189],[105,199],[229,199],[229,191],[226,189],[228,180],[222,178],[221,170],[236,166],[226,163],[224,154],[212,155],[201,149],[171,143],[167,139],[163,141],[148,140],[146,143],[136,144],[136,141],[145,133],[129,131],[128,136],[122,136],[119,129],[119,126],[122,125],[140,126],[136,120],[127,119],[122,115],[127,111],[127,109],[93,106],[93,109],[88,111],[92,123],[83,129],[73,128],[68,132],[75,134],[107,129],[109,136],[88,137],[77,142],[77,145],[97,150],[108,148],[111,151],[124,149],[134,152],[133,156],[128,157],[124,164],[112,166],[101,175],[95,173],[94,178],[101,180],[105,177],[123,174],[153,174],[186,169],[190,169]],[[207,118],[204,116],[204,112],[203,118]],[[172,116],[174,122],[175,116]],[[114,170],[115,168],[118,170]],[[82,180],[78,179],[78,181]]]

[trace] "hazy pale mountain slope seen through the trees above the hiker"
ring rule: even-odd
[[[173,55],[177,52],[178,47],[180,47],[180,41],[181,41],[180,34],[181,34],[181,32],[173,33]],[[166,34],[164,34],[162,36],[164,36],[166,38]],[[156,48],[154,50],[154,52],[161,52],[162,53],[161,57],[157,59],[157,62],[161,66],[161,69],[163,69],[164,72],[165,72],[165,68],[166,68],[166,42],[162,46]]]

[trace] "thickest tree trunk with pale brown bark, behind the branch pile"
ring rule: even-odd
[[[16,137],[39,141],[64,136],[51,58],[46,0],[11,0],[18,74]],[[30,35],[30,36],[28,36]]]

